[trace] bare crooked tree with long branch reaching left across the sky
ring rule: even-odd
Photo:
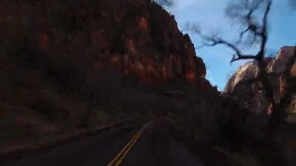
[[[205,36],[201,33],[200,29],[198,31],[195,31],[204,41],[207,41],[207,43],[204,43],[201,47],[203,46],[216,46],[218,44],[223,44],[227,46],[228,48],[232,49],[235,51],[235,54],[233,55],[231,62],[238,61],[240,59],[254,59],[258,62],[259,64],[259,74],[254,80],[250,80],[251,82],[253,81],[260,81],[263,84],[263,88],[265,89],[266,92],[266,97],[267,100],[271,103],[272,107],[272,115],[270,116],[269,119],[269,125],[266,128],[266,139],[270,139],[272,134],[277,132],[277,129],[280,126],[280,123],[282,122],[282,117],[284,112],[282,111],[283,105],[285,103],[289,102],[290,100],[287,100],[288,97],[290,98],[289,95],[283,94],[282,96],[285,97],[283,98],[280,102],[277,102],[277,99],[275,99],[275,94],[274,90],[271,87],[269,83],[268,77],[273,77],[275,76],[274,73],[267,73],[265,70],[265,64],[264,64],[264,58],[265,58],[265,49],[266,49],[266,42],[268,39],[268,34],[267,34],[267,17],[270,11],[270,7],[272,4],[272,0],[241,0],[241,4],[233,4],[232,7],[235,8],[227,8],[228,10],[234,10],[234,11],[227,11],[228,15],[233,17],[239,17],[241,19],[242,24],[246,24],[246,29],[243,30],[240,35],[239,39],[235,44],[232,44],[224,39],[221,39],[217,35],[213,35],[212,37]],[[264,2],[264,3],[263,3]],[[255,15],[254,12],[262,9],[262,5],[264,5],[264,11],[263,11],[263,17],[260,23],[255,23],[253,21],[252,15]],[[246,15],[243,15],[243,12],[241,11],[235,11],[235,10],[241,10],[240,8],[248,8],[248,12]],[[242,42],[242,38],[246,34],[251,34],[253,35],[252,39],[250,40],[250,44],[254,44],[256,42],[256,39],[260,39],[260,44],[259,44],[259,52],[256,55],[244,55],[241,53],[241,50],[238,49],[236,46],[237,44],[240,44]],[[286,99],[286,96],[287,99]],[[285,101],[285,103],[284,103]]]

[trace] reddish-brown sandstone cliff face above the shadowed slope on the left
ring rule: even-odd
[[[36,56],[89,74],[108,66],[149,83],[182,77],[196,84],[206,74],[189,36],[151,0],[16,4],[1,5],[1,33],[18,41],[26,38],[31,49],[42,54]],[[12,28],[13,22],[19,25]]]

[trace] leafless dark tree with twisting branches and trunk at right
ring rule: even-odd
[[[237,0],[236,2],[232,1],[227,5],[226,16],[232,18],[234,21],[238,21],[240,27],[242,28],[238,40],[234,43],[222,39],[218,34],[211,36],[204,35],[201,32],[201,29],[196,25],[187,27],[199,34],[199,36],[205,41],[205,43],[203,43],[198,48],[204,46],[225,45],[235,51],[231,62],[241,59],[253,59],[258,62],[259,74],[257,78],[254,79],[254,81],[260,81],[263,84],[263,88],[265,88],[266,91],[267,100],[270,102],[272,108],[269,125],[266,130],[267,139],[279,129],[285,118],[285,113],[283,111],[284,105],[285,103],[291,101],[291,95],[287,93],[280,95],[278,99],[274,98],[275,94],[268,80],[268,74],[270,73],[266,73],[264,66],[264,58],[266,56],[266,41],[268,39],[267,17],[271,4],[272,0]],[[189,25],[187,24],[187,26]],[[246,37],[248,40],[247,45],[249,47],[259,44],[259,51],[256,55],[243,54],[243,49],[239,48],[240,44],[244,44],[242,41]],[[289,79],[291,78],[284,78],[284,80]],[[286,89],[291,89],[291,87],[287,86]]]

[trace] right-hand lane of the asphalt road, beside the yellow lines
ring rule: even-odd
[[[185,145],[177,142],[162,123],[140,136],[120,166],[204,166]]]

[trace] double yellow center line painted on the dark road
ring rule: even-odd
[[[120,152],[112,159],[112,161],[107,166],[119,166],[120,163],[122,163],[122,161],[124,160],[124,158],[128,154],[129,150],[132,148],[134,143],[137,142],[137,140],[139,139],[141,133],[144,131],[144,129],[147,128],[148,124],[149,123],[144,125],[144,127],[140,130],[140,132],[136,133],[132,137],[132,139],[129,141],[129,143],[122,150],[120,150]]]

